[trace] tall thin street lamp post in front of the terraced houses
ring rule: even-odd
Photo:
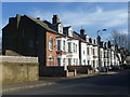
[[[101,56],[100,56],[100,43],[101,43],[101,37],[100,32],[106,31],[106,29],[98,30],[98,55],[99,55],[99,71],[101,71]]]

